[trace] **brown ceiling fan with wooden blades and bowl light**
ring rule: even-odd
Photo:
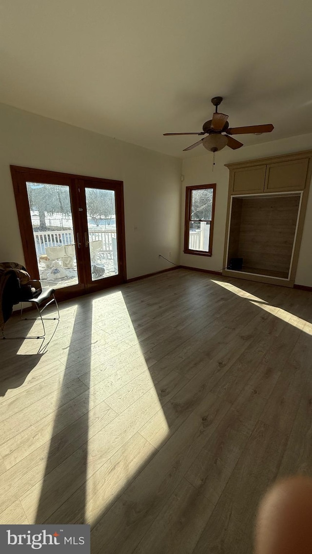
[[[169,135],[208,135],[203,139],[195,142],[194,144],[184,148],[183,152],[187,150],[192,150],[196,146],[202,144],[210,152],[218,152],[222,150],[224,146],[229,146],[232,150],[244,146],[242,142],[239,142],[236,139],[233,139],[231,135],[245,135],[245,134],[255,134],[261,135],[262,133],[270,133],[273,131],[274,126],[272,124],[268,125],[249,125],[247,127],[229,127],[228,115],[220,114],[218,112],[218,106],[221,104],[223,98],[222,96],[214,96],[212,98],[212,103],[215,106],[215,112],[212,116],[212,119],[205,121],[203,125],[203,131],[199,133],[164,133],[164,136]],[[222,133],[225,133],[223,135]]]

